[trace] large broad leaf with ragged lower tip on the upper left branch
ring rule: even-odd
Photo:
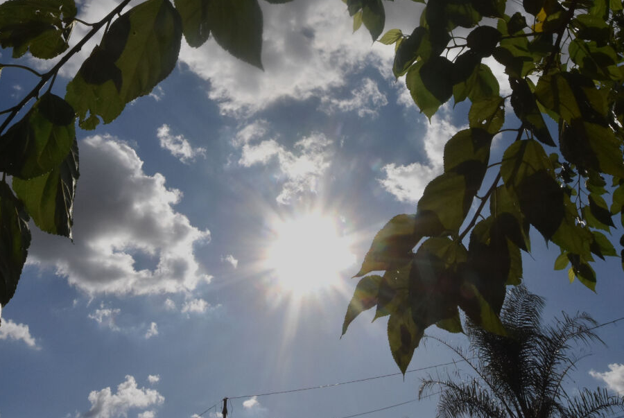
[[[116,19],[67,85],[80,126],[94,128],[95,115],[110,123],[149,94],[175,67],[181,39],[180,15],[168,0],[145,1]]]

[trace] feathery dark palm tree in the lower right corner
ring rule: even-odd
[[[542,326],[543,308],[544,299],[517,286],[501,311],[507,336],[489,333],[469,320],[468,351],[429,336],[455,351],[474,373],[462,376],[457,371],[457,380],[429,376],[419,398],[441,387],[440,418],[598,418],[624,410],[624,398],[610,396],[605,389],[583,389],[574,397],[566,393],[564,378],[580,359],[573,348],[602,340],[587,313],[564,313],[554,325]]]

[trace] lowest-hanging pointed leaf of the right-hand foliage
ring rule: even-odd
[[[401,373],[405,374],[414,350],[418,347],[424,329],[418,326],[410,313],[410,310],[403,313],[395,313],[390,315],[388,320],[388,342],[390,343],[390,351],[395,362],[401,369]]]

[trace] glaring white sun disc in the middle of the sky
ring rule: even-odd
[[[301,296],[330,288],[356,260],[336,220],[319,212],[278,220],[272,231],[265,267],[288,293]]]

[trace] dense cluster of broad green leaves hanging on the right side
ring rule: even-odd
[[[345,2],[354,30],[364,24],[376,40],[381,0]],[[505,14],[511,6],[429,0],[412,33],[392,29],[379,41],[395,45],[392,70],[428,118],[451,98],[470,101],[469,128],[447,141],[444,173],[416,213],[395,216],[374,237],[356,277],[384,273],[359,281],[345,316],[343,333],[366,309],[376,306],[375,319],[390,315],[390,350],[403,372],[428,326],[462,331],[459,309],[505,333],[499,313],[506,286],[521,282],[530,227],[560,248],[555,269],[570,265],[569,279],[592,290],[591,262],[618,256],[610,234],[614,216],[624,225],[622,3],[523,0]],[[505,68],[509,96],[488,57]],[[490,161],[503,132],[511,140]]]

